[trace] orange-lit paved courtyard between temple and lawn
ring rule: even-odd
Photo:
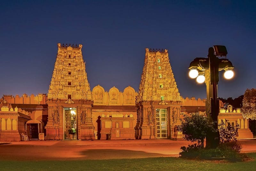
[[[239,140],[243,152],[256,152],[256,140]],[[1,142],[3,143],[3,142]],[[183,139],[150,140],[34,140],[0,145],[0,160],[101,160],[178,157]]]

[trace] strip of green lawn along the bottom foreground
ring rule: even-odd
[[[0,161],[0,170],[213,170],[246,171],[256,170],[256,153],[248,153],[254,160],[246,162],[198,161],[173,157],[118,159],[118,160],[75,160],[75,161]]]

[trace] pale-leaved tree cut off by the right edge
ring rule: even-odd
[[[241,113],[246,119],[256,119],[256,89],[247,89],[244,92],[243,107]]]

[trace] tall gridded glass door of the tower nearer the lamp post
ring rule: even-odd
[[[167,109],[156,109],[157,138],[167,138]]]

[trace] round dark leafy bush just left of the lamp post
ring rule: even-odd
[[[204,138],[208,133],[216,132],[213,124],[210,123],[206,115],[192,113],[190,115],[182,114],[181,125],[178,126],[178,131],[184,134],[184,139],[196,142],[201,148],[204,148]]]

